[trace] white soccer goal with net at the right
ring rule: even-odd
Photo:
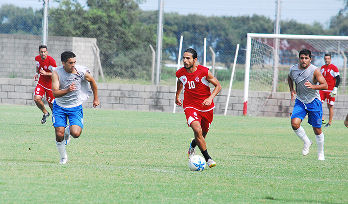
[[[278,40],[276,41],[275,39]],[[275,42],[279,42],[279,50],[277,50],[278,52],[275,50]],[[278,80],[278,76],[275,75],[278,73],[278,67],[276,65],[282,65],[283,67],[287,66],[290,68],[292,64],[298,63],[298,52],[301,49],[311,50],[312,58],[313,53],[315,53],[314,56],[316,57],[317,61],[322,60],[323,62],[324,53],[335,54],[335,57],[338,56],[337,58],[340,58],[340,60],[342,59],[342,63],[340,61],[339,66],[344,72],[342,91],[345,90],[347,77],[347,62],[345,61],[347,59],[346,54],[348,52],[348,36],[248,33],[245,55],[243,115],[249,114],[249,91],[268,91],[268,94],[270,95],[270,92],[272,90],[276,90],[277,88],[276,82]],[[275,56],[274,53],[279,53],[279,55]],[[275,60],[278,62],[275,62]],[[280,60],[282,60],[282,62],[279,62]],[[336,65],[333,61],[332,64]],[[323,65],[323,63],[321,63],[321,65]],[[317,67],[321,67],[321,65],[318,64]],[[337,67],[340,69],[339,66]],[[256,84],[252,85],[250,83]],[[254,103],[258,104],[253,104],[253,107],[256,107],[256,109],[259,109],[258,111],[260,111],[269,95],[264,96],[263,102],[256,102],[255,99]],[[257,115],[258,111],[255,111],[251,115]]]

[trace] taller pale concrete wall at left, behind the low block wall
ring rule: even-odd
[[[94,43],[97,43],[95,38],[48,36],[48,54],[60,66],[60,54],[66,50],[73,51],[77,56],[77,63],[89,68],[93,74],[96,60]],[[39,45],[41,36],[0,34],[0,77],[34,77],[35,56],[39,55]]]

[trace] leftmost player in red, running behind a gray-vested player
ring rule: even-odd
[[[40,45],[39,46],[39,54],[35,57],[36,61],[36,73],[34,76],[34,80],[37,81],[37,78],[40,74],[39,81],[35,87],[34,93],[34,101],[36,106],[44,113],[42,116],[41,123],[44,124],[47,120],[47,117],[50,116],[50,113],[47,112],[44,102],[42,102],[42,98],[46,93],[46,100],[48,102],[49,107],[53,108],[54,96],[52,93],[52,71],[49,69],[50,66],[57,67],[54,59],[51,56],[47,55],[47,46]]]

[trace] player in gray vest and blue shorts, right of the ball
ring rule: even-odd
[[[318,159],[325,160],[324,134],[321,131],[322,106],[319,90],[326,90],[327,83],[321,75],[320,69],[311,64],[312,53],[310,50],[301,50],[298,59],[299,63],[290,68],[288,75],[291,100],[294,101],[294,94],[297,94],[291,115],[291,126],[296,136],[304,142],[302,155],[306,156],[313,142],[301,127],[301,122],[308,114],[308,123],[313,127],[318,146]],[[294,82],[296,91],[294,90]]]

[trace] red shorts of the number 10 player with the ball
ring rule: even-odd
[[[192,108],[185,109],[184,112],[186,115],[188,127],[190,127],[191,122],[197,120],[201,124],[202,131],[208,132],[210,125],[213,122],[213,111],[214,110],[201,112]]]

